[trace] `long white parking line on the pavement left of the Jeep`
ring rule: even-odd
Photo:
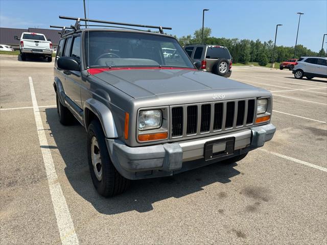
[[[36,128],[37,128],[40,145],[42,145],[41,153],[43,156],[46,176],[48,177],[49,189],[50,189],[52,204],[55,210],[61,243],[79,244],[77,235],[75,233],[73,220],[71,214],[69,213],[69,209],[65,197],[62,193],[62,189],[58,181],[58,176],[56,174],[56,169],[51,156],[48,140],[46,140],[45,137],[42,119],[38,109],[39,107],[37,106],[33,81],[31,77],[29,77],[29,82],[30,82]]]

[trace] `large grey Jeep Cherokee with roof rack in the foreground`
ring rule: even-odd
[[[62,30],[55,61],[59,120],[75,117],[86,129],[101,195],[123,192],[129,180],[240,161],[273,137],[271,93],[197,70],[162,32],[169,28],[81,29],[84,20],[129,24],[60,17],[77,21]]]

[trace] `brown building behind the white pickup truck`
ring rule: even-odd
[[[19,41],[14,39],[14,36],[20,38],[23,32],[42,33],[47,39],[51,39],[54,47],[58,46],[60,35],[58,30],[29,28],[29,29],[16,29],[16,28],[0,28],[0,44],[10,45],[13,48],[19,48]]]

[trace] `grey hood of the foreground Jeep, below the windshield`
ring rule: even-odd
[[[117,69],[95,74],[134,99],[169,93],[222,89],[258,89],[194,69]]]

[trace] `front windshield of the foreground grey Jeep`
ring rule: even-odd
[[[194,68],[176,39],[170,37],[131,32],[90,31],[85,33],[84,44],[85,63],[88,67]]]

